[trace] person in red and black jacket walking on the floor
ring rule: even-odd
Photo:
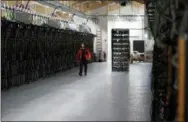
[[[91,59],[91,53],[88,48],[85,47],[84,43],[82,43],[81,48],[77,53],[77,61],[80,63],[80,72],[79,75],[82,76],[82,70],[84,67],[85,76],[87,75],[87,64],[88,60]]]

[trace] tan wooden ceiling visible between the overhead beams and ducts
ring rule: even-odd
[[[27,4],[26,0],[2,0],[3,2],[7,2],[9,5],[18,4]],[[114,11],[120,8],[120,4],[117,0],[57,0],[59,4],[63,4],[65,6],[69,6],[72,9],[75,9],[79,12],[87,14],[88,12],[94,11],[101,7],[106,7],[106,12]],[[131,4],[133,6],[139,6],[144,4],[144,0],[132,0]],[[54,8],[44,6],[39,4],[37,0],[29,0],[29,5],[31,8],[40,14],[50,14],[54,11]],[[69,18],[69,13],[63,11],[56,11],[56,15],[60,18],[67,19]]]

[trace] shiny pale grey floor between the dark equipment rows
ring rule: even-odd
[[[151,64],[110,72],[110,65],[89,65],[2,92],[3,121],[150,121]]]

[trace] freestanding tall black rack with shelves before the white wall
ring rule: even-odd
[[[129,29],[112,29],[112,71],[128,71]]]

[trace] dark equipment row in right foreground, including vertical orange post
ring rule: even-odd
[[[187,0],[147,0],[154,40],[153,121],[188,121]]]

